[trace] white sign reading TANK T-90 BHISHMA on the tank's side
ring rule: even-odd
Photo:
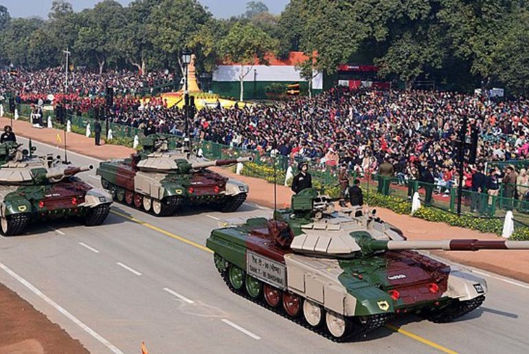
[[[286,289],[286,267],[270,258],[260,256],[251,251],[246,253],[247,273],[264,283],[280,289]]]

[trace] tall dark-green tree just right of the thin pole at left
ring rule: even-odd
[[[80,14],[74,49],[85,61],[95,60],[100,74],[106,63],[117,63],[121,57],[119,41],[125,21],[122,5],[113,0],[104,0]]]

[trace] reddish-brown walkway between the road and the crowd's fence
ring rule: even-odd
[[[5,124],[10,124],[10,120],[0,118],[0,126]],[[57,134],[60,135],[61,139],[63,138],[63,131],[56,129],[34,129],[30,123],[20,120],[14,121],[13,125],[16,135],[32,138],[53,146],[57,145]],[[70,151],[98,159],[122,158],[133,153],[132,148],[124,146],[95,146],[93,139],[76,133],[67,133],[67,148]],[[238,176],[223,168],[212,169],[247,183],[250,188],[248,201],[273,208],[273,184],[254,177]],[[291,196],[290,188],[277,186],[278,208],[289,206]],[[377,209],[378,215],[383,220],[401,228],[410,240],[499,239],[495,234],[455,228],[444,223],[432,223],[407,215],[398,215],[387,209]],[[529,251],[434,252],[434,254],[529,283]]]

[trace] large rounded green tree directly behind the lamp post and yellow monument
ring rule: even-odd
[[[183,74],[181,52],[211,14],[196,0],[164,0],[150,14],[148,33],[155,47],[161,49],[170,65],[177,65]]]

